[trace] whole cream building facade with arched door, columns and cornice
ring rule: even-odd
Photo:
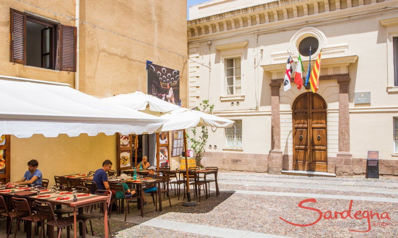
[[[397,11],[396,0],[191,6],[188,50],[199,64],[189,62],[189,107],[209,99],[236,121],[210,133],[204,164],[364,176],[372,150],[380,175],[398,175]],[[318,92],[298,90],[293,76],[285,91],[289,53],[307,71],[309,46],[312,66],[322,49]]]

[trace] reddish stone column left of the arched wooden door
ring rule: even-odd
[[[271,83],[271,150],[268,156],[268,173],[282,173],[281,116],[279,103],[280,83]]]

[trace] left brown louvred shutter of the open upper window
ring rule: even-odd
[[[10,8],[10,61],[26,64],[26,14]]]

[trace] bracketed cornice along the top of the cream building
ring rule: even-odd
[[[336,6],[336,10],[329,11],[329,4],[333,4],[334,0],[324,0],[325,5],[320,4],[317,0],[307,0],[307,1],[276,1],[268,4],[261,4],[258,6],[265,6],[272,8],[265,8],[263,10],[256,10],[256,12],[244,12],[244,9],[240,9],[242,13],[238,15],[230,16],[226,13],[218,14],[222,15],[222,18],[213,19],[212,16],[199,18],[195,20],[188,21],[187,33],[188,41],[202,41],[206,39],[212,39],[214,37],[222,38],[228,37],[228,35],[234,34],[246,34],[253,32],[266,32],[277,30],[284,27],[292,27],[292,24],[304,25],[308,21],[312,23],[316,21],[333,21],[341,18],[347,18],[350,15],[350,19],[356,15],[363,17],[364,12],[369,12],[365,14],[377,14],[378,11],[388,11],[391,10],[392,6],[398,6],[396,0],[385,0],[384,2],[372,1],[371,4],[359,5],[351,7],[351,0],[347,2],[347,8],[339,9]],[[273,3],[273,4],[272,4]],[[279,4],[276,4],[279,3]],[[348,4],[349,3],[349,4]],[[303,6],[305,7],[304,15],[300,16],[299,12],[303,11]],[[321,12],[319,6],[324,6],[324,12]],[[257,6],[254,6],[257,7]],[[249,7],[249,8],[254,8]],[[314,13],[308,12],[308,8],[314,9]],[[337,8],[338,7],[338,8]],[[292,11],[293,10],[293,14]],[[232,12],[236,12],[234,10]],[[275,18],[274,14],[277,13],[278,16]],[[283,13],[281,15],[281,13]],[[218,16],[214,15],[214,16]],[[279,18],[279,16],[281,16]],[[198,21],[202,19],[203,21]],[[195,21],[195,23],[193,23]]]

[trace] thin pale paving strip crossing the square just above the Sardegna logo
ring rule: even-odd
[[[320,189],[320,190],[336,190],[336,191],[382,193],[382,194],[398,195],[398,189],[376,188],[376,187],[355,187],[355,186],[342,187],[342,186],[335,186],[335,185],[316,186],[314,184],[273,183],[273,182],[258,182],[258,181],[228,181],[228,180],[220,180],[219,184],[282,187],[282,188],[295,188],[295,189]]]

